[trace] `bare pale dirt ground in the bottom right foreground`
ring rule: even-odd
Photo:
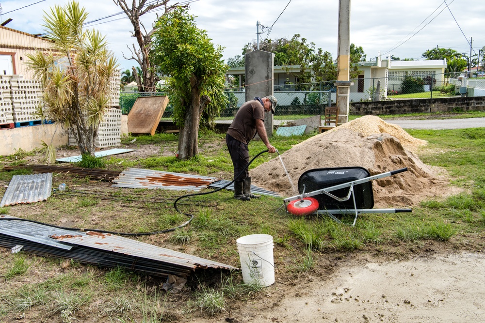
[[[276,282],[258,302],[195,322],[483,322],[483,253],[340,260],[328,277]],[[262,307],[262,308],[261,308]],[[263,309],[265,308],[265,309]],[[227,317],[229,316],[229,317]]]

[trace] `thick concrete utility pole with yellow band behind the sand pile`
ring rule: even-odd
[[[339,43],[337,56],[337,124],[349,120],[350,103],[350,0],[339,0]]]

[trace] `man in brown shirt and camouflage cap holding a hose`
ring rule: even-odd
[[[239,108],[226,134],[226,144],[234,166],[234,198],[237,200],[250,200],[259,198],[251,193],[251,177],[247,166],[249,164],[249,141],[258,132],[259,138],[268,148],[269,153],[275,153],[264,127],[264,112],[275,113],[277,100],[273,95],[244,103]]]

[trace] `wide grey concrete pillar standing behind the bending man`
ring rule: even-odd
[[[256,96],[273,95],[275,54],[263,50],[253,50],[245,55],[245,100],[253,100]],[[264,126],[268,137],[273,133],[273,114],[264,114]]]

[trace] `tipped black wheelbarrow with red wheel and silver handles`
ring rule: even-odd
[[[298,180],[299,195],[284,199],[287,211],[294,215],[322,214],[329,215],[342,223],[335,215],[363,213],[401,213],[411,209],[373,209],[373,180],[407,171],[397,169],[370,176],[362,167],[339,167],[310,169]]]

